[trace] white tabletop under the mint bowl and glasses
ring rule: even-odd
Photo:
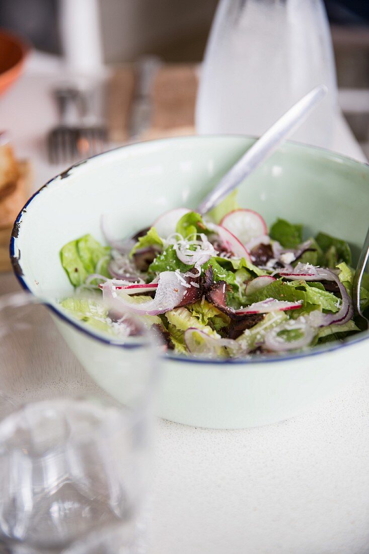
[[[1,127],[18,155],[32,158],[35,188],[58,173],[42,153],[58,72],[38,61],[0,98]],[[365,159],[341,116],[332,150]],[[0,276],[0,294],[17,288],[12,275]],[[152,554],[369,552],[369,373],[277,425],[218,431],[160,422],[153,507]]]

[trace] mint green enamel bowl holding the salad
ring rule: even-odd
[[[143,142],[80,163],[47,183],[14,225],[11,258],[20,283],[34,295],[73,293],[60,247],[85,233],[103,241],[101,214],[125,237],[167,209],[196,208],[254,139],[213,136]],[[335,153],[285,143],[240,187],[240,205],[270,224],[279,216],[345,238],[357,256],[369,213],[369,167]],[[50,308],[70,348],[102,387],[121,391],[109,360],[117,347],[96,340]],[[300,355],[236,362],[164,357],[161,417],[198,427],[254,427],[295,416],[366,370],[368,334]],[[124,348],[119,355],[127,356]],[[101,362],[102,360],[102,362]],[[132,362],[132,371],[135,363]]]

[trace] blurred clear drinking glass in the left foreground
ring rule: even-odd
[[[94,543],[99,554],[139,554],[151,467],[151,339],[135,321],[130,356],[109,345],[116,355],[100,370],[125,389],[122,403],[91,379],[48,310],[31,300],[0,297],[0,552],[87,553]]]

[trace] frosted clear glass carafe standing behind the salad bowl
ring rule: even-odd
[[[322,0],[221,0],[202,68],[197,131],[262,135],[319,84],[329,92],[292,138],[329,147],[337,90]]]

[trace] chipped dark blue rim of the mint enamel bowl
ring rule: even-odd
[[[61,173],[58,173],[58,175],[55,175],[54,177],[49,179],[49,181],[47,181],[34,194],[32,194],[32,196],[24,204],[23,208],[20,210],[20,212],[19,212],[19,214],[18,214],[18,216],[17,216],[17,218],[14,222],[14,225],[13,225],[11,241],[10,241],[10,244],[9,244],[9,254],[10,254],[10,259],[11,259],[14,275],[16,275],[16,278],[18,279],[20,286],[22,286],[22,288],[25,291],[27,291],[29,294],[32,294],[33,296],[35,296],[33,294],[33,292],[29,289],[27,283],[25,283],[25,281],[23,279],[23,271],[22,271],[22,268],[20,268],[20,266],[19,266],[19,258],[17,258],[16,254],[15,254],[16,239],[18,238],[19,226],[20,226],[20,222],[22,220],[22,216],[25,213],[27,213],[27,207],[33,201],[33,199],[36,196],[38,196],[38,194],[40,192],[42,192],[44,188],[47,188],[50,184],[52,184],[54,181],[56,181],[56,179],[58,179],[58,178],[63,179],[65,177],[69,177],[70,173],[74,172],[74,170],[76,168],[78,168],[80,166],[83,166],[83,165],[86,165],[90,160],[94,160],[94,158],[100,158],[100,157],[103,157],[105,155],[108,155],[111,152],[124,150],[125,148],[137,147],[137,145],[157,144],[157,143],[163,143],[163,142],[165,143],[165,142],[173,142],[173,141],[185,141],[186,139],[192,139],[192,140],[193,139],[201,140],[202,138],[204,138],[204,139],[217,139],[217,138],[218,139],[221,139],[221,138],[225,139],[227,137],[229,137],[231,139],[232,138],[233,139],[252,139],[254,141],[258,139],[258,137],[252,136],[252,135],[234,135],[234,134],[233,135],[232,134],[227,135],[227,134],[224,134],[224,135],[188,135],[188,136],[183,136],[183,137],[168,137],[168,138],[165,138],[165,139],[142,141],[142,142],[139,142],[139,143],[133,143],[133,144],[125,145],[125,146],[118,146],[116,148],[112,148],[111,150],[107,150],[106,152],[102,152],[100,154],[96,154],[95,156],[91,156],[90,158],[86,158],[86,160],[81,160],[79,162],[76,162],[73,165],[71,165],[70,167],[68,167],[65,171],[63,171]],[[337,159],[338,158],[339,160],[349,161],[350,163],[352,163],[353,165],[358,166],[358,167],[361,167],[361,166],[369,167],[369,163],[359,162],[358,160],[355,160],[354,158],[351,158],[349,156],[341,155],[339,153],[333,152],[331,150],[327,150],[327,148],[322,148],[320,146],[305,145],[305,144],[297,142],[297,141],[284,141],[283,145],[284,144],[293,145],[294,147],[301,148],[301,150],[305,150],[305,151],[306,150],[313,150],[313,151],[317,150],[320,153],[324,153],[326,156],[328,156],[331,159],[334,159],[334,158]],[[282,145],[282,147],[283,147],[283,145]],[[105,338],[103,336],[96,335],[92,330],[88,329],[87,325],[80,324],[78,322],[78,320],[74,319],[73,317],[68,317],[68,315],[66,315],[62,311],[58,310],[55,306],[53,306],[53,304],[49,304],[49,302],[43,302],[43,304],[45,306],[47,306],[48,309],[50,311],[52,311],[55,315],[57,315],[59,317],[59,319],[61,319],[61,321],[64,321],[64,322],[70,324],[76,330],[81,331],[86,336],[93,337],[95,340],[98,340],[98,341],[102,342],[103,344],[116,346],[116,347],[119,347],[119,348],[127,348],[127,349],[137,348],[137,347],[140,346],[139,344],[117,343],[114,340],[109,340],[108,338]],[[364,336],[362,336],[362,335],[364,335]],[[347,340],[347,341],[332,343],[331,346],[323,346],[323,345],[322,345],[322,347],[316,347],[315,346],[315,347],[312,348],[311,351],[306,350],[306,351],[303,351],[303,352],[290,353],[290,354],[289,353],[288,354],[284,353],[283,356],[282,355],[281,356],[271,355],[271,356],[265,356],[265,357],[264,356],[255,356],[252,359],[249,359],[249,358],[235,358],[235,359],[228,358],[227,360],[219,360],[217,358],[211,358],[211,359],[209,359],[209,358],[196,358],[196,357],[188,357],[188,356],[181,356],[181,355],[174,355],[174,354],[166,353],[165,356],[163,356],[163,358],[165,358],[165,360],[171,360],[171,361],[174,361],[174,362],[204,363],[204,364],[211,364],[211,365],[216,364],[216,365],[228,365],[228,366],[234,366],[234,365],[239,365],[239,364],[249,365],[249,364],[253,364],[253,363],[286,362],[286,361],[298,360],[298,359],[305,358],[305,357],[310,357],[310,356],[322,355],[324,353],[329,353],[329,352],[332,352],[332,351],[335,351],[335,350],[339,350],[340,348],[344,348],[344,347],[347,347],[347,346],[353,346],[353,345],[357,344],[358,342],[362,342],[362,341],[367,340],[367,338],[369,338],[369,332],[362,331],[362,332],[360,332],[360,334],[357,338],[356,337],[355,338],[350,337],[349,340]]]

